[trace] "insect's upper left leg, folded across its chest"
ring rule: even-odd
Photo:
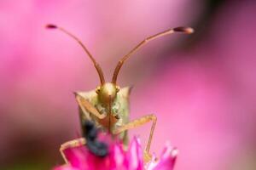
[[[96,116],[99,119],[105,118],[105,114],[101,114],[99,111],[96,110],[96,108],[90,104],[90,102],[87,99],[84,99],[84,97],[80,96],[79,94],[75,93],[75,97],[79,103],[79,107],[81,110],[85,113],[86,111],[89,111],[91,114]]]

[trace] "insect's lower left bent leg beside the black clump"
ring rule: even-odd
[[[67,150],[67,148],[79,147],[84,144],[86,144],[86,140],[84,138],[73,139],[73,140],[65,142],[64,144],[61,144],[60,152],[61,152],[61,156],[63,157],[64,161],[66,163],[68,163],[67,158],[64,154],[64,150]]]

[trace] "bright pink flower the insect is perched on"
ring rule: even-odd
[[[134,138],[127,150],[120,143],[110,145],[105,157],[95,156],[84,146],[65,150],[65,156],[69,164],[54,170],[172,170],[177,150],[166,146],[160,158],[153,156],[151,161],[144,162],[140,141]]]

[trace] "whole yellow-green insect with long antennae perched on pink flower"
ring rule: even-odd
[[[163,37],[175,32],[182,32],[186,34],[193,33],[193,29],[190,27],[176,27],[166,31],[162,31],[154,36],[144,39],[142,42],[138,43],[135,48],[122,57],[113,71],[113,77],[111,82],[105,82],[101,66],[96,62],[96,59],[90,54],[89,50],[85,47],[84,43],[75,37],[72,33],[66,29],[55,26],[48,25],[47,28],[58,29],[68,36],[73,37],[74,40],[79,42],[79,45],[84,49],[84,52],[89,56],[90,60],[94,64],[98,76],[100,78],[101,84],[94,90],[89,92],[76,92],[75,98],[79,104],[79,116],[81,124],[85,121],[92,121],[96,124],[96,127],[102,128],[102,131],[106,131],[113,136],[118,136],[119,139],[123,140],[124,144],[128,142],[127,131],[131,128],[142,126],[145,123],[152,122],[148,143],[144,151],[144,158],[146,160],[150,159],[149,149],[152,141],[154,127],[156,125],[157,117],[154,114],[143,116],[136,120],[129,120],[129,95],[131,93],[130,87],[119,88],[117,84],[117,78],[119,71],[124,65],[125,61],[131,57],[139,48],[143,47],[147,42],[150,42],[158,37]],[[84,131],[82,127],[82,131]],[[66,161],[63,154],[63,150],[69,147],[76,147],[81,144],[85,144],[84,138],[73,139],[64,144],[61,144],[61,154]]]

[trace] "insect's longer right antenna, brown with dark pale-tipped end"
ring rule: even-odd
[[[131,51],[128,54],[126,54],[122,59],[119,60],[118,64],[116,65],[116,67],[113,71],[112,82],[114,84],[116,84],[117,77],[119,75],[119,71],[120,71],[122,65],[125,63],[125,60],[128,59],[131,56],[131,54],[134,54],[139,48],[141,48],[143,45],[150,42],[151,40],[154,40],[158,37],[166,36],[168,34],[172,34],[174,32],[182,32],[182,33],[185,33],[185,34],[191,34],[191,33],[194,32],[194,30],[193,30],[193,28],[190,28],[190,27],[176,27],[176,28],[173,28],[173,29],[162,31],[158,34],[155,34],[154,36],[151,36],[151,37],[148,37],[148,38],[144,39],[142,42],[137,44],[137,46],[135,48],[131,49]]]

